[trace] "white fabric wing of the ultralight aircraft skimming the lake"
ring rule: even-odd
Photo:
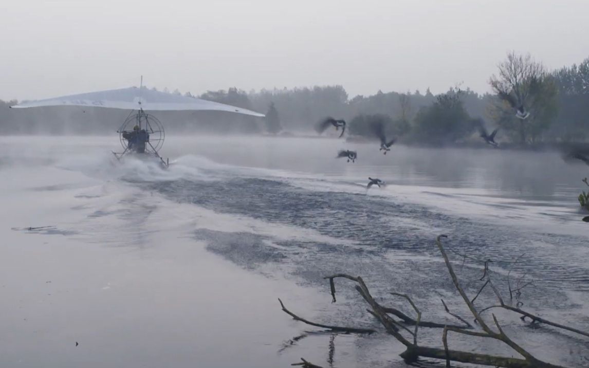
[[[264,114],[244,108],[220,104],[219,102],[201,100],[200,98],[153,91],[145,87],[141,88],[141,91],[137,87],[130,87],[48,98],[47,100],[25,101],[12,107],[27,108],[43,106],[87,106],[120,108],[124,110],[139,110],[140,108],[143,108],[145,111],[216,110],[236,112],[237,114],[253,115],[257,117],[264,116]]]

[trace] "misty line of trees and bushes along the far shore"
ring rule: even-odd
[[[555,71],[530,55],[511,52],[489,78],[493,93],[451,87],[445,93],[382,92],[350,98],[341,85],[207,91],[196,96],[266,113],[266,118],[218,111],[166,111],[157,117],[168,132],[314,134],[326,116],[348,121],[352,136],[370,138],[370,121],[385,122],[387,136],[417,144],[452,144],[477,139],[479,128],[501,128],[500,141],[522,144],[584,141],[589,128],[589,58]],[[164,89],[167,92],[167,89]],[[180,91],[172,92],[180,94]],[[194,97],[190,92],[184,94]],[[509,98],[524,102],[525,120],[515,117]],[[0,101],[0,134],[110,134],[128,111],[101,108],[47,107],[9,109]]]

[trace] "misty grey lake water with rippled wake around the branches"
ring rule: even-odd
[[[277,297],[307,319],[378,327],[351,284],[340,281],[330,303],[322,277],[349,273],[408,314],[389,291],[410,294],[423,320],[455,322],[441,298],[471,319],[439,234],[449,249],[490,258],[504,293],[524,254],[512,271],[534,280],[524,309],[589,329],[589,224],[576,200],[589,170],[555,152],[393,146],[383,155],[378,144],[335,139],[171,136],[163,171],[116,163],[112,137],[0,143],[2,366],[287,367],[305,357],[404,367],[402,345],[386,334],[305,333],[316,329],[280,311]],[[340,149],[358,160],[336,159]],[[369,176],[388,185],[367,191]],[[474,295],[481,265],[452,258]],[[589,365],[587,339],[497,316],[538,358]],[[422,329],[419,341],[441,346],[440,331]],[[511,355],[488,340],[450,341]]]

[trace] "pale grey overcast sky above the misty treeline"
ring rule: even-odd
[[[343,85],[356,94],[457,82],[488,91],[507,51],[549,68],[589,57],[589,0],[6,0],[0,99],[138,85]]]

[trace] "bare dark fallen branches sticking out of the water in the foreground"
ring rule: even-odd
[[[456,276],[456,273],[454,272],[454,268],[452,267],[452,264],[448,258],[448,255],[446,254],[444,246],[442,246],[442,242],[441,242],[442,237],[446,237],[446,236],[439,236],[436,239],[436,245],[438,246],[439,251],[442,254],[442,257],[444,258],[446,268],[448,268],[448,273],[450,274],[450,277],[452,279],[452,283],[454,284],[454,287],[456,288],[456,290],[458,290],[458,293],[462,297],[462,300],[464,300],[464,303],[468,307],[469,311],[471,312],[472,316],[475,319],[475,322],[478,324],[478,326],[480,327],[481,330],[472,329],[472,326],[468,322],[466,322],[464,319],[462,319],[461,317],[459,317],[455,314],[450,313],[450,311],[448,310],[448,307],[446,306],[446,303],[444,302],[444,300],[442,300],[442,304],[444,304],[444,308],[445,308],[446,312],[450,313],[452,316],[461,320],[462,323],[464,323],[464,326],[452,326],[449,324],[434,324],[432,326],[428,326],[428,327],[442,327],[444,329],[442,332],[442,343],[444,344],[444,349],[439,349],[439,348],[435,348],[435,347],[420,346],[418,344],[418,329],[419,329],[419,327],[425,327],[426,325],[425,325],[425,322],[421,321],[421,311],[418,309],[416,304],[413,303],[413,300],[411,299],[411,297],[409,297],[406,294],[392,293],[395,296],[401,296],[401,297],[405,298],[409,302],[409,304],[411,304],[411,306],[413,307],[413,310],[415,310],[415,312],[416,312],[416,315],[417,315],[416,319],[412,319],[411,317],[406,316],[401,311],[398,311],[396,309],[381,306],[379,303],[377,303],[374,300],[374,298],[370,294],[368,286],[366,286],[366,283],[362,280],[362,277],[354,277],[354,276],[350,276],[348,274],[336,274],[333,276],[325,277],[325,279],[329,279],[329,284],[330,284],[330,289],[331,289],[331,294],[332,294],[332,303],[335,303],[335,301],[336,301],[335,279],[337,279],[337,278],[348,279],[348,280],[356,283],[355,289],[358,291],[360,296],[362,296],[362,298],[366,301],[366,303],[368,303],[368,305],[370,307],[368,309],[368,311],[370,312],[370,314],[372,314],[380,322],[380,324],[382,324],[382,326],[384,327],[384,329],[386,330],[387,333],[391,334],[393,337],[395,337],[396,340],[398,340],[403,345],[405,345],[406,350],[405,350],[405,352],[403,352],[401,354],[401,357],[403,357],[403,359],[405,359],[406,362],[415,362],[419,357],[426,357],[426,358],[445,360],[446,367],[450,366],[450,362],[461,362],[461,363],[471,363],[471,364],[479,364],[479,365],[495,366],[495,367],[505,367],[505,368],[562,368],[561,366],[557,366],[557,365],[551,364],[551,363],[542,362],[541,360],[538,360],[537,358],[535,358],[531,353],[527,352],[527,350],[525,350],[523,347],[519,346],[519,344],[515,343],[513,340],[511,340],[509,338],[509,336],[507,336],[507,334],[505,334],[505,332],[501,328],[501,325],[499,324],[499,321],[497,320],[497,317],[495,317],[494,314],[492,314],[492,318],[493,318],[493,325],[492,326],[494,326],[494,327],[491,328],[491,326],[489,326],[487,324],[487,322],[485,322],[485,320],[482,319],[481,313],[485,310],[500,307],[502,309],[507,309],[507,310],[515,311],[519,314],[522,314],[522,320],[524,320],[525,317],[529,317],[530,319],[532,319],[532,321],[545,323],[550,326],[554,326],[554,327],[558,327],[560,329],[572,331],[572,332],[575,332],[578,334],[582,334],[584,336],[589,336],[589,334],[584,331],[581,331],[581,330],[573,329],[571,327],[563,326],[558,323],[554,323],[554,322],[551,322],[548,320],[541,319],[540,317],[535,316],[534,314],[522,311],[519,308],[515,308],[515,307],[511,307],[511,306],[506,305],[504,303],[501,295],[499,294],[499,291],[492,283],[491,271],[489,270],[489,267],[488,267],[489,263],[491,263],[491,260],[485,261],[484,274],[480,279],[480,280],[486,279],[484,286],[482,286],[481,289],[479,289],[477,295],[474,298],[472,298],[472,300],[469,299],[469,297],[466,295],[464,289],[462,289],[462,286],[458,280],[458,277]],[[478,311],[474,306],[474,301],[477,299],[479,294],[482,292],[482,290],[487,285],[489,287],[491,287],[491,289],[494,291],[500,304],[498,306],[492,306],[492,307],[488,307],[486,309],[482,309],[481,311]],[[511,286],[509,286],[509,290],[513,291],[511,289]],[[512,293],[510,293],[510,294],[512,295]],[[335,330],[335,331],[339,330],[339,331],[350,331],[351,332],[353,330],[362,330],[362,331],[368,330],[368,329],[356,329],[355,327],[326,326],[326,325],[322,325],[322,324],[313,323],[308,320],[302,319],[301,317],[296,316],[296,314],[287,310],[284,307],[284,304],[282,304],[282,301],[280,302],[280,304],[282,305],[282,309],[286,313],[290,314],[290,316],[292,316],[294,319],[299,320],[299,321],[303,321],[307,324],[311,324],[312,326],[319,326],[319,327],[323,327],[323,328],[327,328],[327,329],[331,329],[331,330]],[[396,317],[396,319],[395,319],[395,317]],[[415,326],[414,330],[413,331],[409,330],[406,327],[407,324],[411,324],[412,326]],[[451,350],[448,347],[448,333],[449,332],[458,333],[458,334],[465,334],[468,336],[486,337],[488,339],[498,340],[498,341],[506,344],[507,346],[509,346],[512,349],[512,351],[514,352],[514,355],[517,355],[519,357],[495,356],[495,355],[491,355],[491,354],[461,352],[459,350]],[[403,333],[408,333],[409,335],[411,335],[411,339],[407,339],[403,335]],[[310,363],[306,362],[305,360],[303,360],[303,363],[297,363],[297,364],[307,366],[307,367],[317,367],[315,365],[305,365],[305,364],[310,364]]]

